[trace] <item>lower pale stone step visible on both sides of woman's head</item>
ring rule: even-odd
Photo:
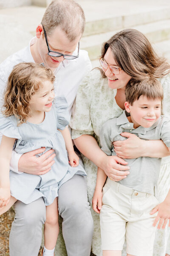
[[[146,35],[151,43],[170,39],[170,19],[139,25],[133,28]],[[102,43],[107,41],[112,35],[120,30],[121,29],[83,37],[80,41],[80,47],[81,49],[87,50],[91,60],[94,60],[96,59],[96,56],[100,55]]]

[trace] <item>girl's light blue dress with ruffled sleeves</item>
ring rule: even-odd
[[[43,197],[45,205],[50,205],[58,196],[58,189],[63,183],[74,174],[86,175],[82,166],[71,167],[68,163],[65,141],[57,130],[63,130],[68,125],[68,105],[62,96],[56,97],[55,102],[51,111],[45,112],[45,119],[40,124],[26,122],[17,126],[15,116],[0,117],[0,132],[17,139],[14,144],[17,153],[24,154],[45,147],[45,152],[53,148],[56,154],[55,163],[44,175],[17,174],[10,171],[11,195],[25,204]]]

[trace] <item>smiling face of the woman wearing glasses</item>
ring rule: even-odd
[[[113,53],[110,47],[105,53],[104,61],[111,66],[119,67],[113,58]],[[114,73],[111,72],[109,67],[107,70],[105,70],[105,75],[108,78],[108,87],[111,89],[122,89],[122,88],[125,89],[128,81],[131,79],[131,76],[127,75],[125,71],[120,70],[119,75],[115,75]]]

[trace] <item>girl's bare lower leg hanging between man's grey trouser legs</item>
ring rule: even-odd
[[[44,245],[48,250],[54,249],[59,233],[57,198],[46,207],[46,221],[44,224]]]

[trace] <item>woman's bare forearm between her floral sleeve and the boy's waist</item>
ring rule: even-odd
[[[99,148],[93,136],[87,134],[81,135],[74,140],[74,143],[85,157],[88,157],[96,166],[104,169],[103,162],[106,154]]]

